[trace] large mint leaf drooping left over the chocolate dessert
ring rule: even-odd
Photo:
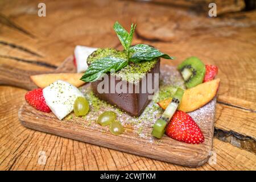
[[[128,61],[118,57],[107,56],[101,59],[95,60],[89,65],[87,71],[80,78],[80,80],[85,82],[93,82],[100,78],[104,73],[110,72],[114,69],[115,72],[126,67]]]

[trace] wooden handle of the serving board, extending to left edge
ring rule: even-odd
[[[32,90],[37,88],[30,79],[31,75],[39,75],[44,73],[75,73],[76,68],[73,65],[73,56],[69,56],[64,62],[54,71],[27,71],[19,68],[14,68],[6,64],[0,64],[0,85],[11,85],[19,88]]]

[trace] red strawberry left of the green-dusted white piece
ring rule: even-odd
[[[25,100],[35,109],[43,111],[45,113],[51,112],[51,109],[46,105],[46,101],[43,96],[43,89],[34,89],[26,93]]]

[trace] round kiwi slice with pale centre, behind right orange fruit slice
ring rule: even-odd
[[[187,88],[199,85],[204,80],[205,65],[197,57],[189,57],[185,59],[180,65],[179,69]]]

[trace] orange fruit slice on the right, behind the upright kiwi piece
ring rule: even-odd
[[[199,84],[191,89],[185,90],[179,110],[187,113],[203,107],[214,98],[219,84],[220,78],[204,82],[203,84]],[[162,109],[166,109],[170,102],[170,98],[167,98],[166,100],[159,101],[158,105],[162,107]]]

